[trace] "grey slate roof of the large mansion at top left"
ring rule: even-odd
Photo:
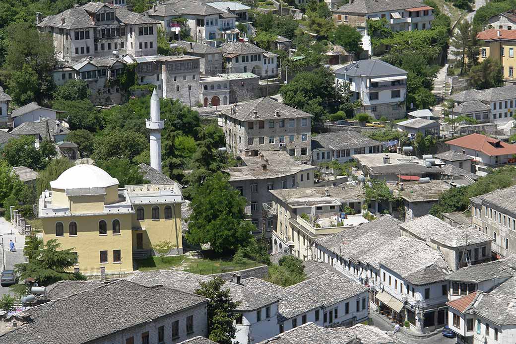
[[[91,20],[88,12],[94,13],[102,7],[115,9],[115,19],[120,24],[159,24],[155,19],[146,17],[135,12],[131,12],[124,7],[112,6],[103,3],[88,3],[86,5],[70,8],[56,15],[49,15],[43,19],[37,26],[39,27],[57,27],[66,29],[95,27],[95,23]],[[61,18],[65,19],[62,23]]]

